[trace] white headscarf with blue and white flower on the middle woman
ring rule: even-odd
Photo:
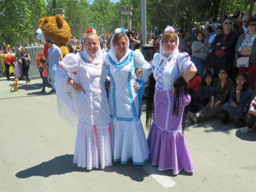
[[[114,62],[116,62],[116,63],[121,63],[121,62],[123,62],[123,61],[127,58],[127,56],[128,56],[128,54],[130,53],[131,49],[129,49],[129,43],[130,43],[129,38],[128,38],[128,37],[126,36],[126,34],[125,34],[126,42],[127,42],[126,52],[125,52],[124,56],[123,56],[119,61],[117,60],[115,48],[114,48],[114,45],[113,45],[113,38],[114,38],[114,36],[115,36],[116,34],[118,34],[118,33],[125,33],[125,30],[124,30],[123,28],[116,28],[116,29],[114,30],[114,34],[112,35],[112,38],[111,38],[111,40],[110,40],[110,51],[108,52],[108,54],[109,54],[109,56],[112,58],[112,60],[113,60]]]

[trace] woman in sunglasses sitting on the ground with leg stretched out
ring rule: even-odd
[[[226,67],[221,68],[218,71],[218,78],[213,82],[210,100],[198,112],[188,112],[190,119],[196,123],[198,120],[204,120],[208,116],[223,112],[222,106],[229,98],[232,85],[233,81],[228,78],[228,69]],[[222,118],[222,123],[223,119],[226,119],[226,116]]]

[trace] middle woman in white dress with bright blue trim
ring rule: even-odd
[[[122,164],[132,160],[143,165],[148,160],[148,146],[139,119],[141,108],[138,92],[151,73],[151,65],[144,60],[139,50],[132,51],[123,28],[115,29],[110,41],[110,51],[105,55],[110,77],[108,103],[112,127],[113,161]],[[135,70],[144,73],[138,80]],[[138,83],[136,82],[138,81]]]

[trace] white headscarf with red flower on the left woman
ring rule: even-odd
[[[86,30],[86,34],[87,33],[96,34],[96,30],[89,28],[89,29]],[[91,56],[85,50],[85,43],[84,43],[85,42],[85,38],[86,37],[84,37],[84,40],[83,40],[83,51],[81,51],[81,55],[84,58],[86,58],[87,60],[91,61],[93,64],[94,63],[99,63],[102,60],[102,51],[101,51],[101,47],[100,47],[100,44],[99,44],[99,38],[98,38],[98,50],[96,52],[96,56],[95,56],[94,60],[91,58]]]

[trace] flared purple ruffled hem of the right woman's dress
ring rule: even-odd
[[[194,166],[182,132],[167,133],[154,123],[151,126],[147,143],[152,165],[158,164],[158,170],[172,169],[178,174],[181,169],[193,172]]]

